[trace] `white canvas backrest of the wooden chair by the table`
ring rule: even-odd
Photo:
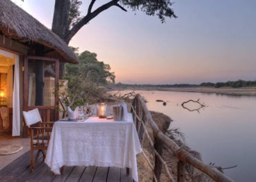
[[[22,114],[25,119],[25,123],[29,128],[30,128],[30,125],[33,125],[38,122],[42,122],[42,118],[37,108],[33,110],[29,110],[28,112],[23,111]]]

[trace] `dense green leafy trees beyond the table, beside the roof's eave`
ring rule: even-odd
[[[73,50],[77,50],[72,47]],[[97,60],[97,54],[84,51],[77,54],[78,64],[65,64],[63,79],[68,80],[68,90],[60,95],[70,97],[70,106],[74,109],[83,103],[104,101],[104,85],[115,83],[115,73],[109,64]]]

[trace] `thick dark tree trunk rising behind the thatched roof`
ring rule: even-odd
[[[68,33],[69,10],[70,0],[55,0],[52,31],[58,34],[67,44],[69,41],[65,39],[65,35]],[[60,79],[62,79],[64,64],[60,62]]]

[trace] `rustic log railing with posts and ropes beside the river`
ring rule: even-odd
[[[132,103],[132,114],[134,119],[134,125],[138,131],[138,135],[140,140],[143,139],[143,136],[148,135],[147,129],[145,128],[145,123],[149,123],[151,126],[154,139],[158,142],[162,142],[167,149],[172,151],[172,153],[177,157],[179,160],[177,164],[177,181],[184,181],[184,165],[188,163],[189,165],[195,167],[199,171],[204,172],[207,176],[211,177],[215,181],[223,181],[223,182],[231,182],[234,181],[233,179],[228,178],[222,172],[218,171],[215,167],[211,165],[207,165],[204,162],[198,160],[194,156],[192,156],[188,151],[185,149],[180,148],[172,139],[170,139],[167,135],[165,135],[161,130],[159,130],[156,123],[153,121],[150,112],[147,109],[147,105],[145,104],[143,98],[138,94],[135,96],[133,103]],[[148,136],[149,137],[149,136]],[[154,146],[153,142],[150,140],[152,145]],[[173,177],[171,176],[170,172],[168,171],[168,167],[164,162],[163,158],[159,154],[156,148],[154,148],[154,153],[156,158],[159,158],[159,161],[163,163],[164,169],[170,181],[174,181]],[[154,170],[154,180],[159,181],[160,174]]]

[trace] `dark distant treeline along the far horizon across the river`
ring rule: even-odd
[[[237,80],[237,81],[227,81],[227,82],[203,82],[202,84],[115,84],[116,87],[128,88],[128,87],[136,87],[136,88],[146,88],[146,87],[252,87],[256,86],[256,80],[254,81],[245,81],[245,80]]]

